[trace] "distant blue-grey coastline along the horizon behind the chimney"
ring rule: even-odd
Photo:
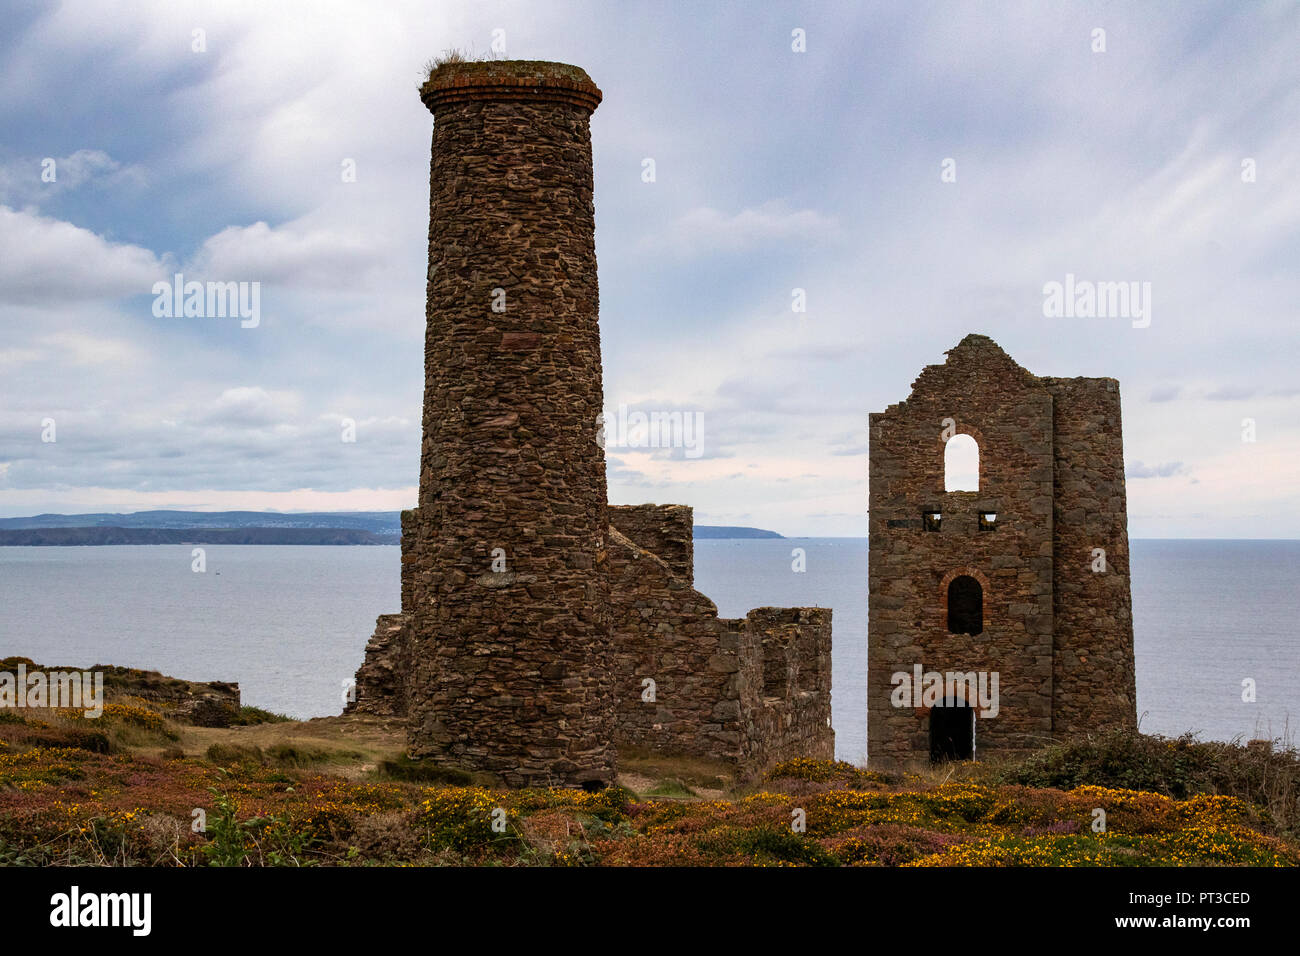
[[[775,531],[697,524],[697,538],[780,538]],[[96,545],[395,545],[398,511],[140,511],[0,518],[4,546]]]

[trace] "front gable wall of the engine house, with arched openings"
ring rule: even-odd
[[[944,490],[945,419],[979,442],[979,492]],[[930,714],[896,708],[892,674],[996,671],[1001,713],[976,748],[1052,730],[1052,395],[992,339],[968,337],[924,369],[906,402],[871,416],[868,754],[930,753]],[[942,514],[940,531],[920,515]],[[979,529],[979,512],[997,515]],[[983,583],[984,628],[948,632],[946,584]]]

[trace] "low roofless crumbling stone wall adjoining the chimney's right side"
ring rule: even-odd
[[[664,528],[654,528],[655,514]],[[628,520],[629,515],[634,523]],[[615,739],[620,747],[724,760],[759,770],[789,757],[832,758],[831,611],[759,607],[744,619],[718,607],[642,541],[676,545],[693,566],[685,506],[611,509]],[[647,683],[653,682],[653,683]]]

